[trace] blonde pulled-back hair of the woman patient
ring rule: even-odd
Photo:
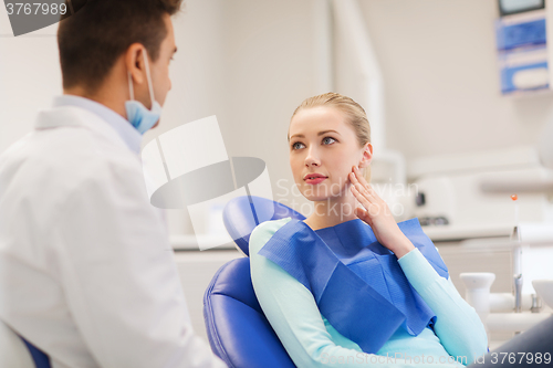
[[[357,141],[359,143],[359,147],[363,147],[365,146],[365,144],[371,143],[371,125],[368,124],[367,114],[365,113],[365,109],[363,109],[363,107],[361,107],[361,105],[357,104],[352,98],[341,95],[338,93],[328,92],[322,95],[304,99],[292,114],[290,122],[292,122],[293,117],[295,116],[295,114],[298,114],[298,112],[304,108],[312,108],[319,106],[335,107],[342,113],[344,113],[347,123],[349,123],[353,130],[355,132],[355,135],[357,136]],[[290,140],[290,133],[288,134],[288,140]],[[365,180],[367,180],[367,182],[371,182],[371,166],[365,168],[363,176],[365,177]]]

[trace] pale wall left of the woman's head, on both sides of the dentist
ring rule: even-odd
[[[263,159],[275,194],[278,179],[290,187],[288,123],[314,93],[313,3],[187,0],[174,18],[179,51],[170,66],[173,88],[161,124],[144,145],[217,115],[229,156]],[[31,132],[36,113],[62,93],[56,30],[53,24],[13,38],[0,7],[0,153]],[[192,232],[185,210],[169,210],[168,220],[171,233]]]

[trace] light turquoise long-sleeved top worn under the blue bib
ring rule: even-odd
[[[417,249],[398,263],[436,314],[434,332],[425,328],[411,336],[399,327],[376,355],[363,353],[326,320],[304,285],[258,254],[290,220],[267,221],[253,230],[250,264],[261,308],[298,367],[463,367],[487,353],[488,338],[476,311],[459,295],[451,280],[438,275]]]

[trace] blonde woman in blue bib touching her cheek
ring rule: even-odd
[[[250,236],[253,288],[298,367],[462,367],[487,351],[417,219],[396,223],[371,187],[371,128],[353,99],[305,99],[289,128],[290,166],[314,202],[304,221]]]

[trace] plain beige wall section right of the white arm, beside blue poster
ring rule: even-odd
[[[386,88],[387,145],[414,158],[533,145],[553,95],[500,94],[497,0],[362,0]]]

